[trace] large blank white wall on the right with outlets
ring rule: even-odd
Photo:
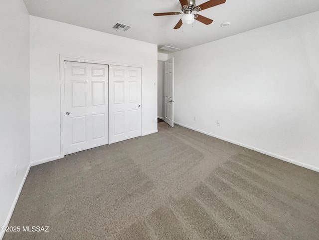
[[[168,57],[176,122],[319,171],[319,12]]]

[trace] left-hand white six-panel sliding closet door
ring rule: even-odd
[[[64,62],[65,154],[108,143],[108,65]]]

